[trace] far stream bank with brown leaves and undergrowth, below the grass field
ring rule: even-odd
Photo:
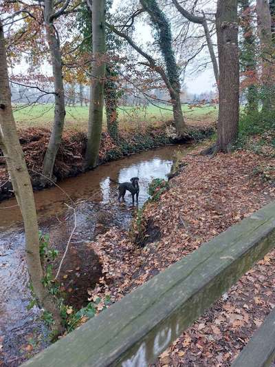
[[[198,141],[214,133],[213,125],[189,127],[190,140]],[[43,128],[24,129],[19,132],[20,143],[32,178],[34,189],[41,189],[41,167],[50,140],[50,130]],[[146,127],[139,131],[122,132],[115,142],[109,134],[102,133],[98,165],[140,151],[175,143],[175,128],[171,123],[157,127]],[[54,176],[60,181],[83,172],[87,138],[83,132],[68,131],[63,134],[54,165]],[[184,143],[184,142],[183,142]],[[0,200],[13,196],[12,185],[5,167],[5,158],[0,151]],[[52,182],[49,181],[49,186]]]

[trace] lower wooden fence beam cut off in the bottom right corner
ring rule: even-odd
[[[231,367],[267,367],[275,360],[275,308],[254,333]]]

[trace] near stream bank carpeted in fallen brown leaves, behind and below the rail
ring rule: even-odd
[[[197,151],[199,153],[199,150]],[[263,167],[259,173],[256,167]],[[140,247],[133,233],[111,229],[94,249],[102,258],[104,277],[91,295],[119,300],[170,264],[252,212],[274,200],[274,156],[249,150],[213,157],[190,154],[170,180],[159,201],[149,202],[135,231],[154,242]],[[150,241],[149,241],[150,242]],[[195,324],[162,353],[157,366],[230,366],[252,333],[275,306],[274,251],[223,295]]]

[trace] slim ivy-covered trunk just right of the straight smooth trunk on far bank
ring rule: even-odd
[[[118,92],[113,81],[111,66],[106,67],[106,80],[104,83],[104,99],[107,119],[107,129],[113,140],[118,140]]]

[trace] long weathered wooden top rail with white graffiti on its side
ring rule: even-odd
[[[275,247],[275,202],[203,244],[24,366],[147,366]]]

